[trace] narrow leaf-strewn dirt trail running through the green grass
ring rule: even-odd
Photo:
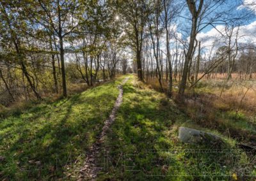
[[[83,164],[83,168],[79,171],[79,177],[77,180],[95,180],[97,177],[97,173],[100,171],[100,168],[96,167],[95,161],[96,156],[99,154],[100,148],[102,147],[102,143],[104,142],[104,139],[106,138],[106,133],[109,131],[109,127],[115,120],[116,112],[120,105],[122,104],[122,98],[123,98],[123,85],[124,83],[129,80],[129,77],[125,78],[123,82],[118,85],[119,89],[119,95],[115,101],[115,105],[113,107],[113,110],[111,114],[109,115],[108,119],[105,120],[104,126],[102,127],[102,132],[100,133],[100,136],[97,137],[97,141],[93,143],[92,147],[90,147],[90,150],[88,151],[88,154],[86,156],[86,159]]]

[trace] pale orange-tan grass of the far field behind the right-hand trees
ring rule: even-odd
[[[161,90],[157,78],[148,79],[147,84],[150,86],[150,88],[155,89],[156,91]],[[162,81],[162,85],[164,92],[167,92],[168,82],[164,80]],[[174,96],[177,94],[178,85],[179,82],[173,82]],[[196,94],[203,94],[204,96],[205,94],[212,94],[212,96],[214,96],[212,101],[216,102],[217,107],[223,107],[225,104],[225,106],[228,106],[234,110],[238,109],[256,113],[256,80],[240,81],[232,79],[228,82],[224,82],[218,78],[201,80],[198,83],[198,88],[195,90],[188,89],[185,96],[191,98],[191,96],[196,96]]]

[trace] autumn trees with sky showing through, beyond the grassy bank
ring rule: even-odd
[[[184,2],[1,1],[1,104],[65,97],[74,83],[127,72],[169,96],[175,84],[179,97],[205,78],[221,77],[223,91],[230,80],[255,79],[254,34],[246,34],[255,4]],[[218,34],[202,36],[209,28]]]

